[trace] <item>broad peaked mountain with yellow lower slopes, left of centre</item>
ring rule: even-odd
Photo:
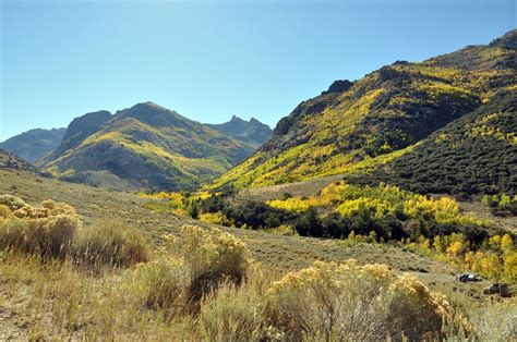
[[[64,180],[119,188],[193,188],[253,152],[227,137],[152,102],[111,115],[72,121],[63,141],[38,164]]]

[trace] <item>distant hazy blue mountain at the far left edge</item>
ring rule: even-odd
[[[31,130],[0,143],[0,148],[35,162],[58,147],[65,131],[65,129]]]

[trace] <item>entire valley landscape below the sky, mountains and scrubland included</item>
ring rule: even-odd
[[[0,340],[517,339],[517,30],[274,130],[154,102],[0,145]]]

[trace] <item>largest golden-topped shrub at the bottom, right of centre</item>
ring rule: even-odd
[[[438,332],[448,308],[422,283],[383,265],[316,261],[266,293],[273,326],[292,339],[418,339]]]

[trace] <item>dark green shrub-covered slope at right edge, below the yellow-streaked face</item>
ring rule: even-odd
[[[418,193],[517,194],[517,91],[501,91],[486,105],[433,133],[371,178]]]

